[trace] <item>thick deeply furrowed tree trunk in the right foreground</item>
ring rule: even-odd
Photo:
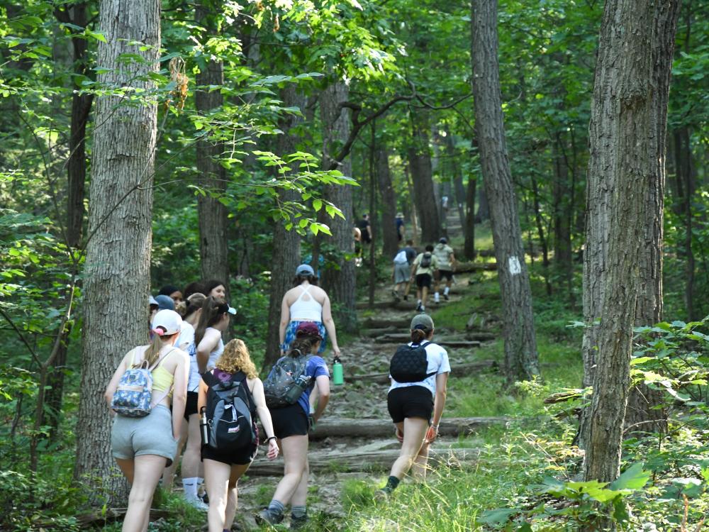
[[[652,257],[661,250],[659,194],[677,10],[674,0],[610,0],[603,14],[589,128],[588,182],[607,197],[601,211],[591,209],[592,198],[587,198],[586,225],[598,224],[598,233],[586,249],[591,246],[594,256],[601,249],[607,253],[601,256],[604,270],[585,272],[598,276],[596,282],[603,284],[605,294],[597,306],[600,314],[593,316],[600,318],[600,324],[594,331],[597,343],[591,345],[597,346],[598,355],[593,399],[581,438],[586,446],[586,480],[611,482],[618,477],[632,327],[638,312],[656,314],[661,309],[657,301],[661,262]],[[601,218],[596,218],[599,214]],[[645,250],[648,245],[649,252]],[[652,275],[648,267],[655,269]],[[600,524],[602,529],[613,529],[612,523]]]

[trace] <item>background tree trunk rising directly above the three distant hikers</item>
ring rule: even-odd
[[[428,147],[428,116],[424,111],[411,113],[413,145],[408,149],[408,162],[415,189],[414,200],[421,228],[421,242],[435,243],[441,236],[436,194],[433,187],[431,154]]]

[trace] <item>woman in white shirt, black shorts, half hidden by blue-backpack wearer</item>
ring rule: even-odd
[[[182,433],[177,443],[177,453],[172,465],[165,469],[162,475],[162,487],[172,489],[174,472],[177,470],[177,462],[182,449],[182,489],[185,500],[197,509],[207,509],[206,504],[197,496],[199,484],[203,482],[202,463],[199,459],[199,448],[201,437],[199,435],[199,414],[197,410],[197,392],[199,390],[199,367],[197,367],[197,348],[194,343],[194,328],[199,322],[202,314],[202,305],[207,299],[204,294],[191,294],[189,298],[182,301],[177,306],[177,311],[182,314],[182,331],[177,338],[176,345],[189,356],[189,377],[187,379],[187,401],[184,409],[184,419],[182,423]]]

